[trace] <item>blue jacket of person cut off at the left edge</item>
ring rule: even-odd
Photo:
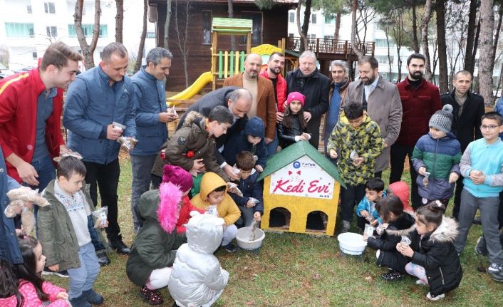
[[[16,237],[16,229],[14,228],[14,220],[4,214],[5,208],[10,202],[7,192],[16,187],[19,187],[19,183],[7,175],[4,152],[1,151],[0,147],[0,259],[10,264],[23,263]]]

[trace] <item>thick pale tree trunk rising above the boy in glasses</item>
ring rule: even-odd
[[[479,61],[479,86],[480,95],[484,98],[486,105],[492,104],[492,68],[494,63],[492,58],[492,43],[494,33],[494,11],[493,0],[484,0],[480,4],[480,56],[479,59],[489,61]]]

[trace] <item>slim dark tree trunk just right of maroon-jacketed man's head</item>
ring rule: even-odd
[[[438,41],[438,88],[440,93],[447,92],[447,45],[445,43],[445,0],[437,0],[437,41]]]

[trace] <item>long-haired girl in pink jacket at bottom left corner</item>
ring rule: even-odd
[[[44,281],[40,277],[46,264],[46,257],[42,254],[41,244],[31,236],[23,236],[19,239],[19,249],[23,256],[23,264],[15,264],[11,270],[4,267],[10,266],[9,264],[1,261],[2,267],[0,271],[2,273],[0,274],[0,279],[4,280],[0,281],[0,283],[8,285],[6,288],[9,291],[6,292],[11,296],[0,298],[0,306],[68,306],[68,294],[66,291],[48,281]],[[14,273],[14,276],[11,273]],[[0,296],[4,296],[4,293],[1,293]]]

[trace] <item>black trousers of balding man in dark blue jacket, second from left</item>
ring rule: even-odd
[[[117,187],[119,184],[119,159],[107,165],[94,162],[84,162],[87,174],[85,182],[90,184],[90,198],[94,206],[98,206],[98,187],[100,187],[101,207],[108,207],[108,227],[105,228],[109,240],[121,239],[118,217]]]

